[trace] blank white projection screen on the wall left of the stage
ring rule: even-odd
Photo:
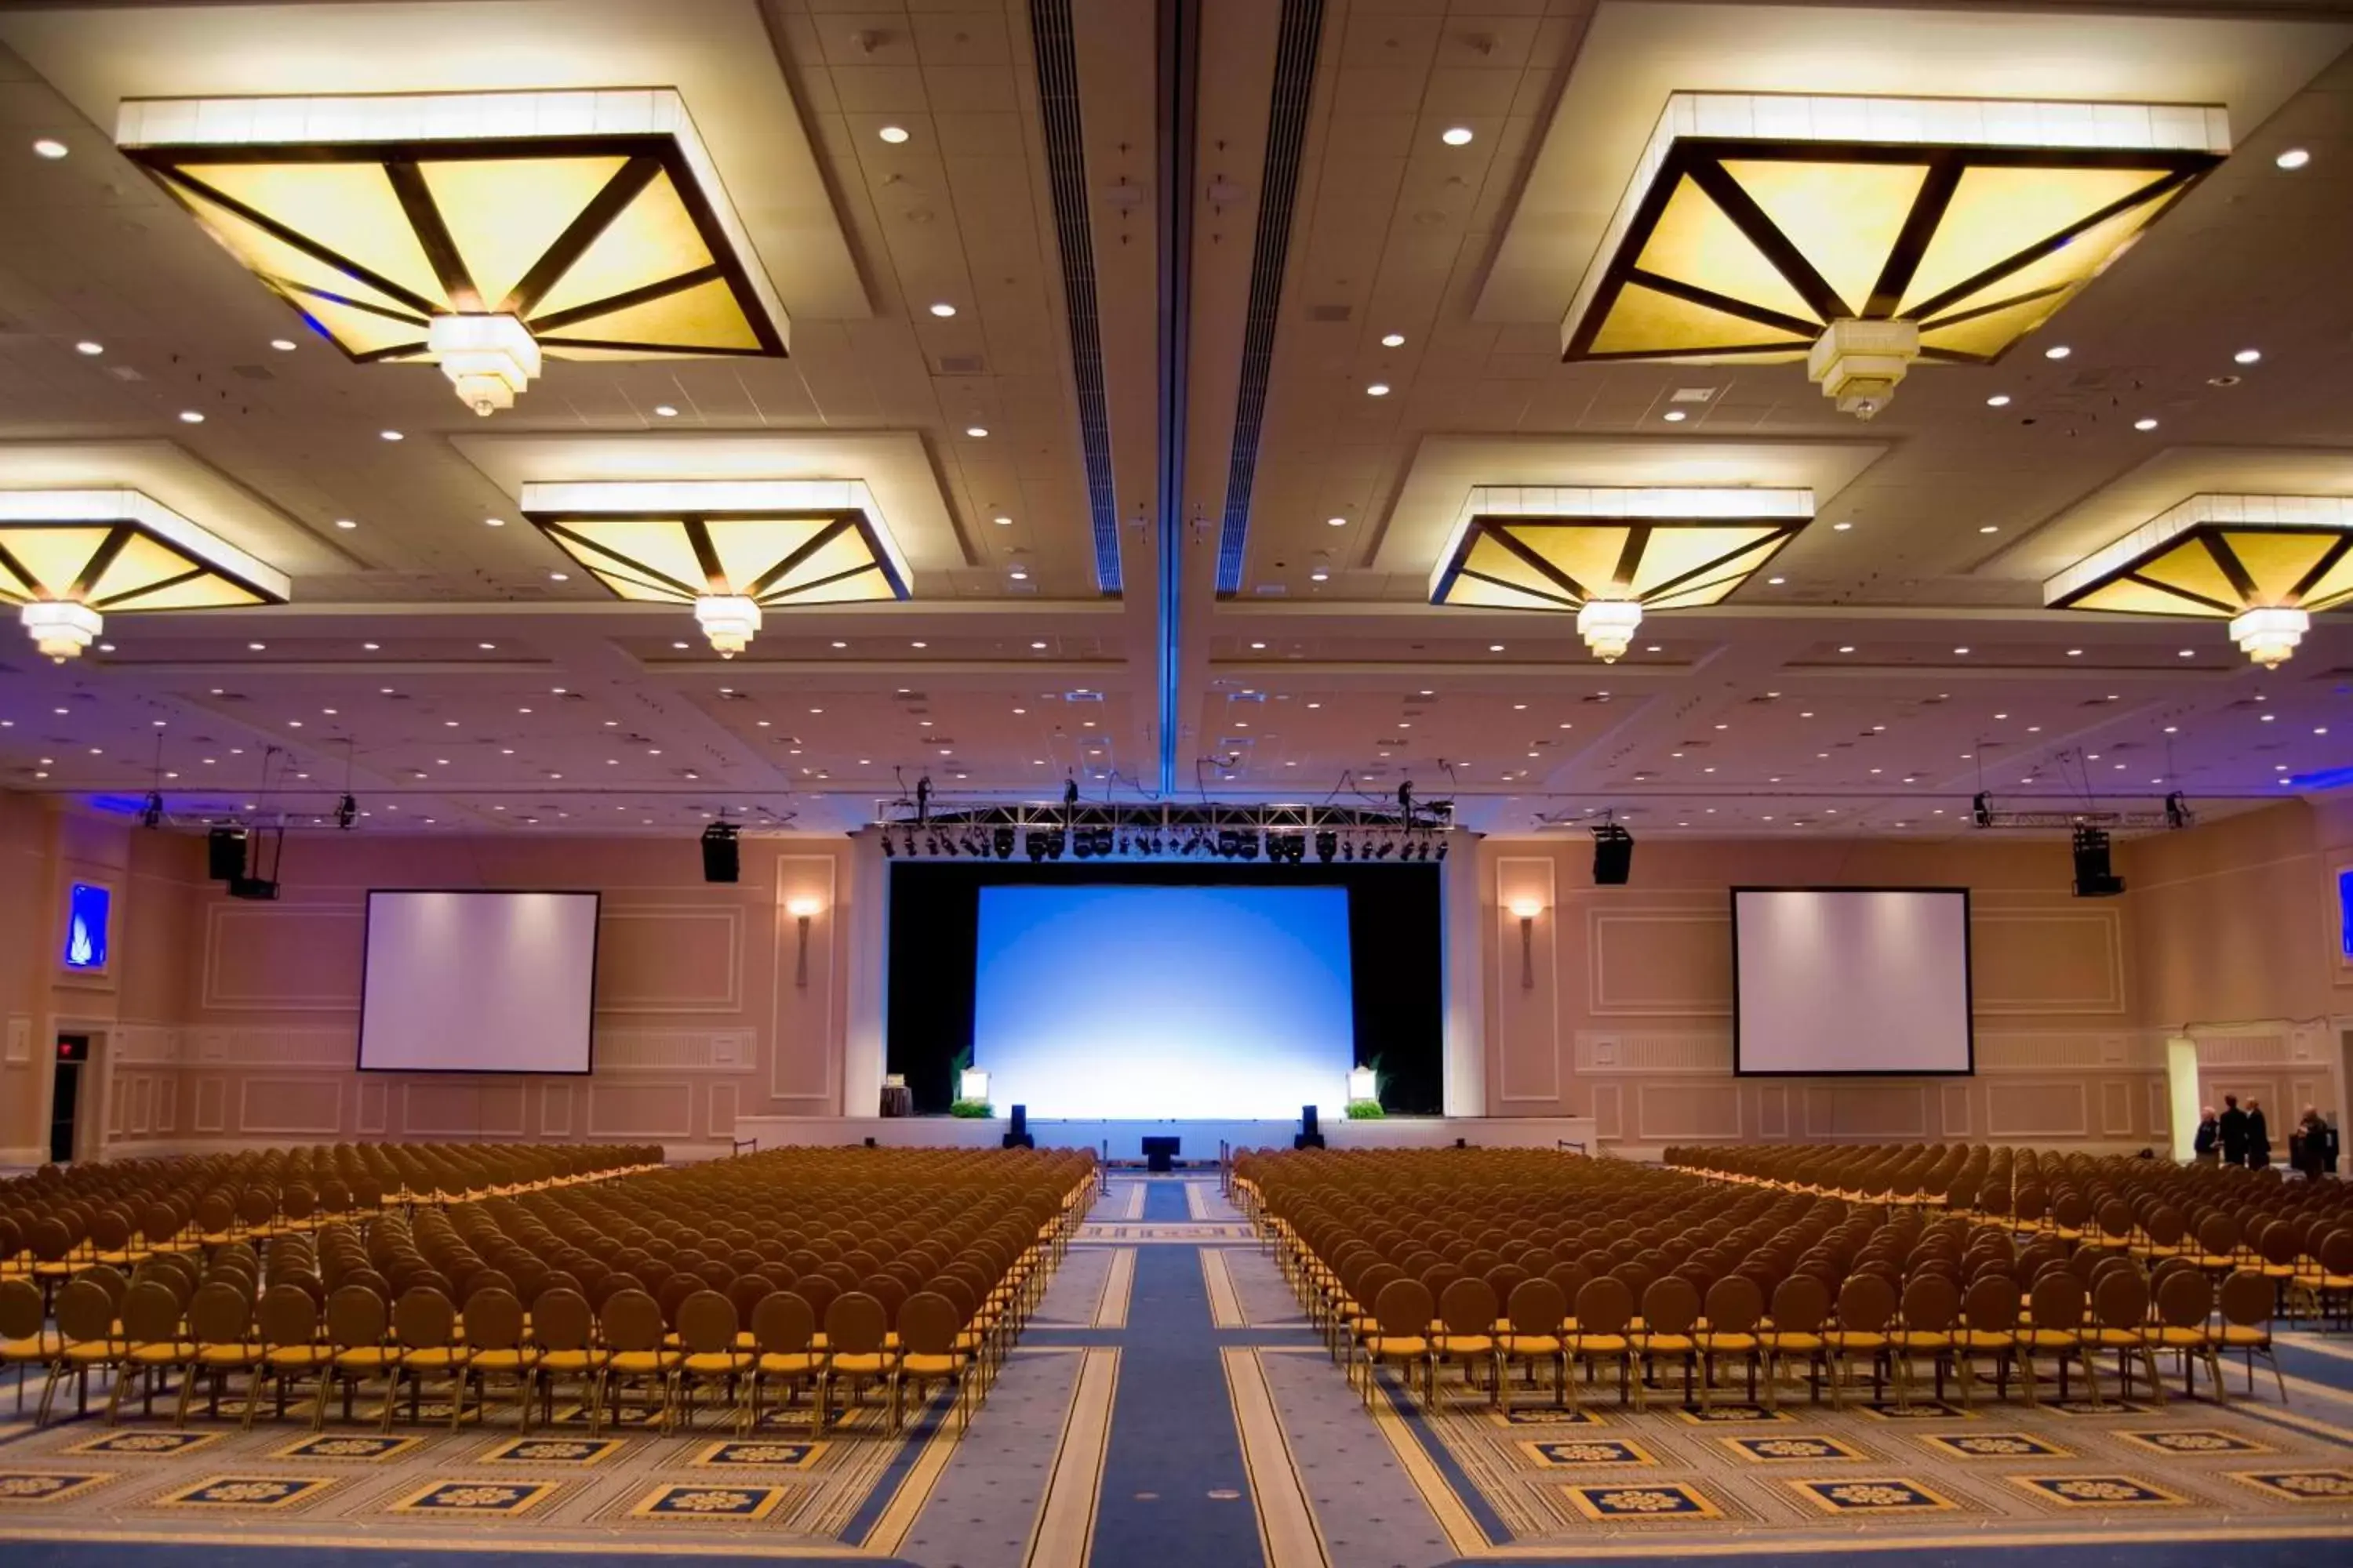
[[[360,1072],[588,1072],[598,893],[367,896]]]

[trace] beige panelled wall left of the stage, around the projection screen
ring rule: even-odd
[[[0,907],[0,1013],[28,1041],[64,1023],[104,1030],[108,1145],[129,1154],[198,1143],[374,1138],[654,1140],[725,1147],[736,1117],[835,1114],[842,1093],[849,910],[842,839],[744,839],[734,886],[706,884],[692,839],[292,837],[278,903],[240,903],[205,879],[202,842],[5,802],[0,853],[45,891]],[[73,992],[24,964],[47,954],[61,875],[96,867],[118,891],[118,961]],[[120,886],[120,882],[118,882]],[[360,933],[372,886],[595,889],[591,1077],[360,1074]],[[791,898],[809,922],[798,973]],[[49,990],[42,990],[49,985]],[[31,1046],[0,1079],[0,1145],[45,1138],[47,1063]],[[864,1110],[864,1107],[861,1107]],[[871,1114],[871,1112],[868,1112]],[[35,1128],[35,1124],[40,1124]]]

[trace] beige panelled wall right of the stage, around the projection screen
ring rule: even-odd
[[[1626,1152],[1706,1140],[2165,1145],[2165,1039],[2209,1093],[2344,1105],[2353,966],[2332,872],[2353,806],[2301,802],[2118,846],[2122,898],[2073,898],[2064,842],[1645,842],[1598,889],[1584,835],[1480,846],[1489,1114],[1591,1114]],[[1727,889],[1967,886],[1972,1079],[1732,1074]],[[1522,985],[1515,900],[1546,907]]]

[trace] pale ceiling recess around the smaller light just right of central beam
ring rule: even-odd
[[[1692,442],[1654,435],[1431,435],[1414,449],[1374,567],[1428,574],[1471,491],[1513,484],[1593,489],[1807,489],[1819,515],[1887,442]]]

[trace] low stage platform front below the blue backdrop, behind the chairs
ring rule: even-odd
[[[779,1145],[859,1145],[887,1150],[993,1150],[1012,1121],[1002,1117],[736,1117],[736,1138]],[[1562,1143],[1593,1150],[1591,1117],[1381,1117],[1379,1121],[1320,1121],[1334,1150],[1442,1150],[1461,1140],[1492,1150],[1553,1150]],[[1217,1159],[1235,1150],[1287,1150],[1299,1121],[1042,1121],[1031,1117],[1040,1150],[1094,1150],[1104,1159],[1144,1159],[1144,1138],[1179,1138],[1176,1159]]]

